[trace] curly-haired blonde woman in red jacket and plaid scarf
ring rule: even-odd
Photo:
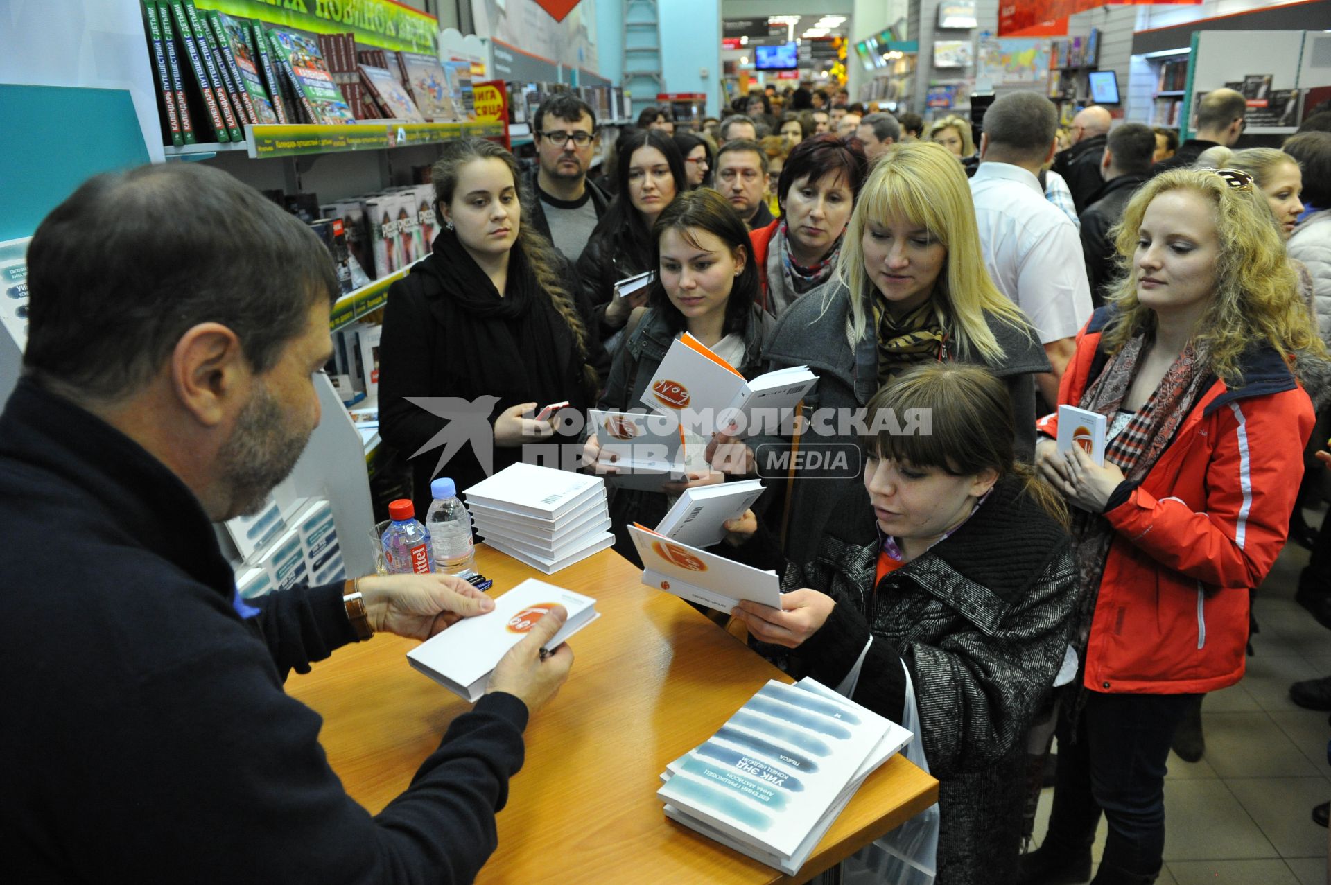
[[[1078,337],[1059,402],[1105,415],[1105,466],[1044,475],[1078,507],[1082,679],[1065,701],[1049,833],[1022,882],[1149,884],[1165,846],[1165,760],[1179,715],[1243,676],[1248,590],[1284,544],[1312,405],[1291,369],[1324,350],[1264,197],[1236,170],[1142,186],[1117,240],[1126,275]]]

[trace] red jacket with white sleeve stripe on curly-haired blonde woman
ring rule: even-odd
[[[1097,310],[1077,337],[1058,402],[1078,405],[1099,374]],[[1086,648],[1086,687],[1099,692],[1211,692],[1243,676],[1248,588],[1288,532],[1312,433],[1312,403],[1271,347],[1242,361],[1242,387],[1217,379],[1139,486],[1121,484],[1105,518],[1105,560]],[[1058,415],[1038,423],[1058,435]]]

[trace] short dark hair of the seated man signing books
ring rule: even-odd
[[[189,329],[217,322],[256,373],[337,299],[319,237],[258,190],[200,164],[85,181],[28,245],[27,373],[113,402],[161,370]]]

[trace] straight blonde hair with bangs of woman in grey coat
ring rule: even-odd
[[[893,214],[924,228],[930,240],[948,250],[930,301],[940,326],[949,331],[960,353],[976,351],[990,365],[1005,357],[986,313],[1034,339],[1026,314],[998,291],[985,269],[976,205],[961,164],[942,145],[913,141],[892,145],[873,164],[841,241],[836,278],[851,290],[847,338],[852,349],[872,318],[864,299],[873,286],[864,269],[864,230],[870,220],[882,221]],[[828,294],[833,289],[828,286]]]

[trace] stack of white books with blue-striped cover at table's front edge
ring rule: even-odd
[[[666,816],[795,876],[864,779],[913,737],[812,679],[764,685],[666,767]]]

